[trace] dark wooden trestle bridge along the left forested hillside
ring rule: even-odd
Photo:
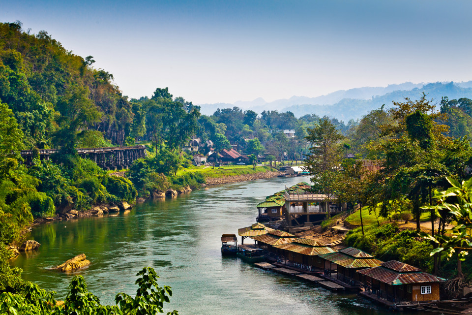
[[[134,147],[110,147],[110,148],[88,148],[76,149],[81,158],[88,158],[98,166],[106,170],[127,169],[135,159],[147,156],[145,146]],[[52,154],[58,153],[58,149],[39,150],[41,160],[49,160]],[[33,150],[21,151],[24,164],[29,166],[33,163]]]

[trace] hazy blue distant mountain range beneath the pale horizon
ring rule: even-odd
[[[405,82],[391,84],[387,87],[363,87],[350,90],[340,90],[327,95],[317,97],[292,96],[288,99],[277,99],[266,102],[262,97],[252,101],[237,101],[234,104],[216,103],[199,104],[202,114],[211,115],[217,108],[232,108],[237,106],[243,110],[251,109],[257,113],[264,110],[278,110],[279,112],[291,111],[296,117],[306,114],[318,116],[331,116],[346,123],[350,119],[361,118],[372,109],[385,104],[387,108],[392,106],[392,101],[402,101],[405,97],[417,99],[421,93],[427,94],[428,99],[433,99],[437,104],[442,96],[449,99],[460,97],[472,98],[472,81],[468,82],[437,82],[420,83]]]

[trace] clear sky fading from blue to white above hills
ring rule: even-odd
[[[194,104],[472,80],[472,1],[0,0],[0,22],[47,31],[124,95]]]

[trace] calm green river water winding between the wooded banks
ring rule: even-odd
[[[43,224],[28,236],[41,243],[39,251],[22,253],[13,264],[23,269],[25,279],[57,291],[58,299],[72,276],[80,274],[102,304],[115,304],[116,293],[136,292],[136,273],[150,266],[161,277],[160,285],[172,287],[167,310],[183,315],[387,314],[355,294],[332,293],[221,256],[221,234],[237,234],[237,228],[255,223],[258,202],[301,181],[308,179],[226,184],[150,200],[115,216]],[[90,259],[88,268],[73,274],[48,270],[79,253]]]

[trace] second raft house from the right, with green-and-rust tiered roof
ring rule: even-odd
[[[353,247],[345,248],[339,252],[322,254],[318,257],[320,263],[324,266],[325,274],[331,277],[333,277],[333,274],[336,274],[336,279],[353,285],[359,280],[359,274],[356,271],[377,267],[383,262],[371,254]]]

